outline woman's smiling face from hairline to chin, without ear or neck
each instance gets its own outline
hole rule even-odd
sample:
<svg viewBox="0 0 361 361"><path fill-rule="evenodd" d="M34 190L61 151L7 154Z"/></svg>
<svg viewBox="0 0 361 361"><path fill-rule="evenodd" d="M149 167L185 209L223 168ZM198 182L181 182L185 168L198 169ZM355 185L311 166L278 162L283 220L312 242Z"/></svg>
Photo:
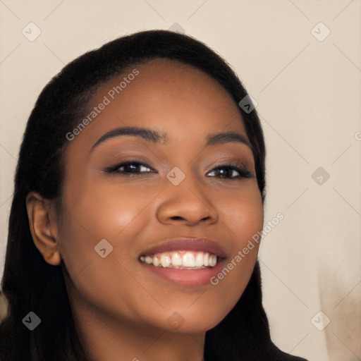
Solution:
<svg viewBox="0 0 361 361"><path fill-rule="evenodd" d="M66 151L58 229L72 304L143 329L213 328L250 279L257 244L235 259L263 226L254 159L237 105L208 75L158 59L99 88L89 114L91 121L73 132L78 135ZM104 137L126 127L160 136ZM209 137L226 132L245 142L219 136L207 145ZM122 166L126 161L131 164ZM244 166L246 176L225 164ZM221 251L194 240L166 244L187 237L213 240ZM165 267L140 260L157 264L151 248L159 245L165 245L157 252ZM215 267L204 269L204 257L222 252ZM168 266L173 257L182 266ZM203 262L203 268L179 269L187 259ZM217 277L232 261L233 269Z"/></svg>

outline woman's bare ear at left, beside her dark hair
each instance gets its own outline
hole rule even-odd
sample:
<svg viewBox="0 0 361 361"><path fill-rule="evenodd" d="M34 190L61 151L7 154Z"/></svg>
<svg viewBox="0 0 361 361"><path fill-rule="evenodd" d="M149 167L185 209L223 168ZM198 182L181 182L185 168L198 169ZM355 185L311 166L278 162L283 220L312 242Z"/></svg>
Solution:
<svg viewBox="0 0 361 361"><path fill-rule="evenodd" d="M54 266L60 264L58 225L53 202L37 192L28 193L25 202L35 246L46 262Z"/></svg>

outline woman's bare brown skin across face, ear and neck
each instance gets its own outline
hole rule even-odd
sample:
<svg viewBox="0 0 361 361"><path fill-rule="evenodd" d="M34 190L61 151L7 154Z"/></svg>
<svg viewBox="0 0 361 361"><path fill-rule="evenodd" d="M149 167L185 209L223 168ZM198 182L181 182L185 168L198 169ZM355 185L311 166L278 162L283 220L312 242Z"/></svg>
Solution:
<svg viewBox="0 0 361 361"><path fill-rule="evenodd" d="M237 104L215 80L165 59L133 68L139 75L70 142L61 210L36 192L27 196L32 238L49 264L63 267L92 360L201 361L205 332L242 295L258 245L216 286L176 285L154 276L137 258L167 238L190 235L221 244L225 265L230 262L263 227L255 163L250 147L239 142L204 147L210 133L234 131L247 139ZM133 68L100 87L92 104ZM124 126L159 130L169 140L118 136L90 152L102 135ZM134 157L156 172L104 171ZM231 179L231 170L225 178L212 173L221 161L237 159L252 178ZM176 186L166 178L174 166L185 174ZM102 239L113 247L105 258L94 251ZM178 329L167 322L173 312L183 319Z"/></svg>

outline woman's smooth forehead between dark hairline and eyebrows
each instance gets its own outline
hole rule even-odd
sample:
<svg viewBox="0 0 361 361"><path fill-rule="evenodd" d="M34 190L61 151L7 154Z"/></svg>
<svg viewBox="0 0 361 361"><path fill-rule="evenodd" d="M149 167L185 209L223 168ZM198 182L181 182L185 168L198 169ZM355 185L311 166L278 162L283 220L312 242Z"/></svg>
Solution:
<svg viewBox="0 0 361 361"><path fill-rule="evenodd" d="M130 66L99 87L89 111L99 104L106 105L79 136L87 137L87 144L125 126L157 129L170 142L200 142L206 134L220 131L238 131L247 137L228 92L206 73L178 61L154 59Z"/></svg>

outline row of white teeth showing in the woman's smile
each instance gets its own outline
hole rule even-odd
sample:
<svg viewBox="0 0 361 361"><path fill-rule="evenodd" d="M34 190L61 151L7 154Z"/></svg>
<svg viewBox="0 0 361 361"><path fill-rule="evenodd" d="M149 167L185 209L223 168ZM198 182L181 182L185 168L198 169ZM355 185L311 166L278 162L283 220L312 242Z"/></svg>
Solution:
<svg viewBox="0 0 361 361"><path fill-rule="evenodd" d="M216 266L219 257L211 252L178 250L142 255L139 260L145 264L169 269L205 269Z"/></svg>

